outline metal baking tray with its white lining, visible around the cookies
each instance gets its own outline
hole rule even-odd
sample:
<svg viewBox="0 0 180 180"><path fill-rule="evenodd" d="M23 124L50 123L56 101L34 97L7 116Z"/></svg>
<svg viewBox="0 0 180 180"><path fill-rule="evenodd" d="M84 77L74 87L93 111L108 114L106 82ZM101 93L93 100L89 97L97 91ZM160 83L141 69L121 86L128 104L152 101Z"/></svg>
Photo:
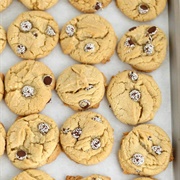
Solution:
<svg viewBox="0 0 180 180"><path fill-rule="evenodd" d="M0 24L7 30L9 24L17 15L27 10L20 2L13 1L7 10L0 13ZM68 3L68 0L60 0L57 5L47 10L47 12L53 15L60 28L73 17L81 14ZM166 171L156 176L156 178L159 180L180 180L180 1L169 0L166 10L157 19L145 23L138 23L125 17L116 7L115 0L104 11L98 12L98 14L112 23L118 40L129 28L141 24L157 25L164 29L169 37L169 50L165 62L159 69L150 73L160 85L163 97L165 97L165 102L161 109L150 123L159 125L165 129L170 138L172 138L174 148L174 161L170 163ZM59 45L57 45L49 56L40 61L44 62L53 70L56 78L63 69L77 63L70 57L65 56ZM10 47L7 46L5 51L0 55L0 72L6 73L11 66L18 62L20 62L20 58L14 55ZM105 65L96 65L96 67L104 72L108 81L118 71L131 69L130 66L118 59L116 53L110 62ZM112 180L132 180L135 176L124 175L117 159L122 134L123 132L130 131L132 127L120 123L114 117L108 107L106 98L103 99L98 109L92 111L103 114L115 129L115 145L111 155L105 161L95 166L86 167L72 162L64 153L61 153L55 162L45 165L40 169L50 174L56 180L65 180L66 175L88 176L93 173L109 175L112 177ZM65 107L56 93L53 92L52 103L46 106L42 114L52 117L60 127L74 112L70 108ZM16 117L6 107L4 102L0 102L0 121L4 123L6 129L11 126ZM0 158L0 180L10 180L19 172L21 171L9 162L6 155Z"/></svg>

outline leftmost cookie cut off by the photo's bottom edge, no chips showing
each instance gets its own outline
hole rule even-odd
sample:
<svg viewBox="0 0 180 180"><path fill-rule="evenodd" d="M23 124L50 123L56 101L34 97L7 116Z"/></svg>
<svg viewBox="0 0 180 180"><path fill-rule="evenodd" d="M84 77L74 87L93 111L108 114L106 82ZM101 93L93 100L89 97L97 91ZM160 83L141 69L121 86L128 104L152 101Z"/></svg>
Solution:
<svg viewBox="0 0 180 180"><path fill-rule="evenodd" d="M29 169L21 172L20 174L15 176L12 180L54 180L54 179L43 171Z"/></svg>

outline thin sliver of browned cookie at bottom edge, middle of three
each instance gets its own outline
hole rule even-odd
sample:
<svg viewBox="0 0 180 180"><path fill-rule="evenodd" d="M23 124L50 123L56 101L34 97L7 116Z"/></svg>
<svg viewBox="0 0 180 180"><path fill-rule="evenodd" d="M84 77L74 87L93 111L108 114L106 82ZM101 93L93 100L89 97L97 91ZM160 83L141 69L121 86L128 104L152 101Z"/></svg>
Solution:
<svg viewBox="0 0 180 180"><path fill-rule="evenodd" d="M81 177L81 176L67 176L66 180L111 180L109 177L101 176L98 174L93 174L88 177Z"/></svg>

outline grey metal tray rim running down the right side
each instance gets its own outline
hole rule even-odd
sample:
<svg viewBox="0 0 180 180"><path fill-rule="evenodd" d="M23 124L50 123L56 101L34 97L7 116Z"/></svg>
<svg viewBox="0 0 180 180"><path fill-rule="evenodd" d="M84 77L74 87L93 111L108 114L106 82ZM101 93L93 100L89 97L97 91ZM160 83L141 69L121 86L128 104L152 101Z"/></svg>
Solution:
<svg viewBox="0 0 180 180"><path fill-rule="evenodd" d="M171 110L173 138L173 175L180 179L180 0L169 0L169 43L170 43L170 74L171 74Z"/></svg>

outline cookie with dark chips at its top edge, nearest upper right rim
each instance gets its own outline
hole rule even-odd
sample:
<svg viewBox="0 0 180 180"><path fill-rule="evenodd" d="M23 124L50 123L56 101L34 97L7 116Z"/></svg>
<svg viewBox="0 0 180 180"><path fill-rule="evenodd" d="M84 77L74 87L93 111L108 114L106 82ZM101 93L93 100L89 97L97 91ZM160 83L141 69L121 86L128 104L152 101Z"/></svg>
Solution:
<svg viewBox="0 0 180 180"><path fill-rule="evenodd" d="M150 72L157 69L166 57L167 38L156 26L142 25L131 28L120 40L119 58L133 68Z"/></svg>

